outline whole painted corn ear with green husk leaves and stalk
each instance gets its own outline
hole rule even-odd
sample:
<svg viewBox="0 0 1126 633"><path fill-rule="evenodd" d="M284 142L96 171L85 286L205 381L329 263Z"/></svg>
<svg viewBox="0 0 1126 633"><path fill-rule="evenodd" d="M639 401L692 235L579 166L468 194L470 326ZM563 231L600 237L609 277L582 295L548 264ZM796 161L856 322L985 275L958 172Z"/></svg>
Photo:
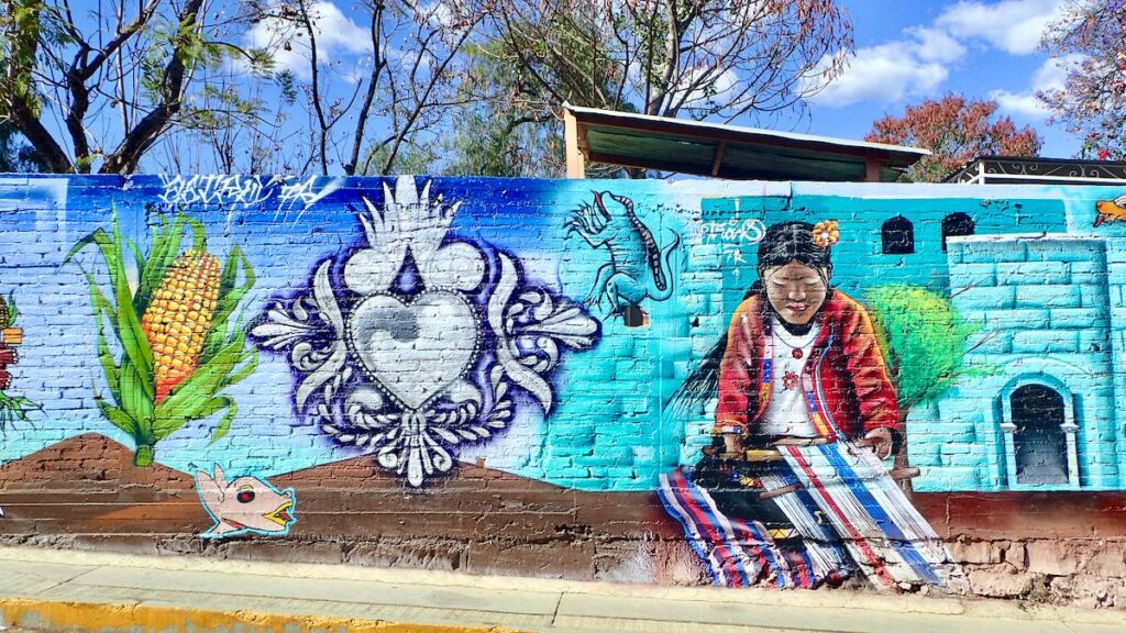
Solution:
<svg viewBox="0 0 1126 633"><path fill-rule="evenodd" d="M181 252L189 230L193 244ZM149 252L143 253L122 234L115 213L109 232L98 229L82 238L63 261L93 246L108 269L109 293L83 269L109 394L96 387L95 401L106 420L133 438L137 466L151 465L157 443L188 422L222 413L212 442L226 435L239 409L222 391L258 366L258 350L247 345L242 320L232 320L254 285L242 250L232 247L221 266L207 251L203 224L182 213L158 216L150 233ZM137 279L133 284L131 267Z"/></svg>

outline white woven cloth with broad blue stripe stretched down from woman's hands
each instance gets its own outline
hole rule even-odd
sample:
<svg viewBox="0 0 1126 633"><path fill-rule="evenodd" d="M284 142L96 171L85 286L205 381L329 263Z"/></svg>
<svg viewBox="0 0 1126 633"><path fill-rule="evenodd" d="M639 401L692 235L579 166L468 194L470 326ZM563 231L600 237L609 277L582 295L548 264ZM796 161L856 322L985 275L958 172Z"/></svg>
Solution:
<svg viewBox="0 0 1126 633"><path fill-rule="evenodd" d="M847 440L779 449L873 585L944 586L960 576L941 540L872 451Z"/></svg>

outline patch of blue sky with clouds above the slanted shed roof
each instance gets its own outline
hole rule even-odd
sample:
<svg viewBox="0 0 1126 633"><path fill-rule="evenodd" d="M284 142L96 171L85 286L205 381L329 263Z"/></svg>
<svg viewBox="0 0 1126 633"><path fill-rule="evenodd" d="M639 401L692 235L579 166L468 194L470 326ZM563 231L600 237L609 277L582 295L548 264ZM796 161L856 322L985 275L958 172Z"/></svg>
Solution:
<svg viewBox="0 0 1126 633"><path fill-rule="evenodd" d="M1069 158L1080 145L1033 98L1063 72L1038 47L1067 0L842 0L856 39L846 73L816 95L798 130L860 139L885 114L926 97L995 98L1002 114L1044 136L1040 155Z"/></svg>

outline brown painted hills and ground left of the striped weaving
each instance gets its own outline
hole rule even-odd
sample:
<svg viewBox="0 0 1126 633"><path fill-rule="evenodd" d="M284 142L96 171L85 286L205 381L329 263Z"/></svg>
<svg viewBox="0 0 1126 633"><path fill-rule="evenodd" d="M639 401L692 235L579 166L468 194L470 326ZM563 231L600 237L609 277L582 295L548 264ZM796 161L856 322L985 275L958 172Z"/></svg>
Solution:
<svg viewBox="0 0 1126 633"><path fill-rule="evenodd" d="M297 521L284 541L194 538L212 520L190 475L137 469L129 448L87 434L0 466L0 540L560 578L703 573L654 493L581 492L472 464L417 491L370 457L270 482L297 493Z"/></svg>

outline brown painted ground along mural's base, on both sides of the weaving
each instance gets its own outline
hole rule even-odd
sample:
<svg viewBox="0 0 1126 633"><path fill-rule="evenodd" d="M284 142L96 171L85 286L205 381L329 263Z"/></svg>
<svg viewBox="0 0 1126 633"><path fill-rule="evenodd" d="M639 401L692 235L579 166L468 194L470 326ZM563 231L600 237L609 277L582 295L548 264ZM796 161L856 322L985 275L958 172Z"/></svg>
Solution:
<svg viewBox="0 0 1126 633"><path fill-rule="evenodd" d="M423 491L369 457L270 479L294 488L284 538L196 538L212 521L190 475L154 464L98 434L0 466L0 542L134 552L349 562L474 573L703 582L679 525L651 492L583 492L479 465ZM229 473L234 475L236 473ZM975 592L1085 596L1126 604L1126 492L917 493ZM1066 587L1057 585L1071 582ZM1106 589L1107 582L1111 588ZM1062 588L1061 588L1062 587ZM1084 589L1085 590L1085 589ZM1081 596L1082 594L1082 596ZM1094 599L1094 598L1092 598Z"/></svg>

